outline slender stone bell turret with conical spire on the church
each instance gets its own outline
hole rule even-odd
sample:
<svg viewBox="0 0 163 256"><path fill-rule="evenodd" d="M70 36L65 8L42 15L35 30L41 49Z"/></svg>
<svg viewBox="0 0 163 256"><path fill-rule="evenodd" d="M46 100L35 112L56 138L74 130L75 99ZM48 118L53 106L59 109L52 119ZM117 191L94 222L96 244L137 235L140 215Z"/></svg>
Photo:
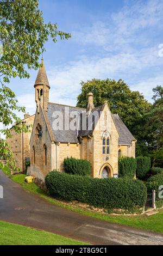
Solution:
<svg viewBox="0 0 163 256"><path fill-rule="evenodd" d="M49 102L49 82L46 75L45 65L43 63L43 58L41 59L41 66L39 68L39 72L36 77L36 81L34 84L35 88L35 101L37 106L37 112L39 113L39 106L43 107L45 111L47 111L48 102Z"/></svg>

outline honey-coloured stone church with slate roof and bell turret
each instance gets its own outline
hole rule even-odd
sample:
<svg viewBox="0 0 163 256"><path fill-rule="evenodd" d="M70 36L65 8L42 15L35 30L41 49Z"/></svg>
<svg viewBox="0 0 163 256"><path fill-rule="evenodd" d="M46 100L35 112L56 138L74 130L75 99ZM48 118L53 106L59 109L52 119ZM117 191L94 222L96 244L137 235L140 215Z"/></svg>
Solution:
<svg viewBox="0 0 163 256"><path fill-rule="evenodd" d="M136 139L108 103L97 108L89 93L87 108L49 102L43 59L34 84L36 113L30 137L30 169L41 185L51 170L64 172L64 159L91 162L93 177L117 177L118 157L135 157ZM102 124L102 125L101 125Z"/></svg>

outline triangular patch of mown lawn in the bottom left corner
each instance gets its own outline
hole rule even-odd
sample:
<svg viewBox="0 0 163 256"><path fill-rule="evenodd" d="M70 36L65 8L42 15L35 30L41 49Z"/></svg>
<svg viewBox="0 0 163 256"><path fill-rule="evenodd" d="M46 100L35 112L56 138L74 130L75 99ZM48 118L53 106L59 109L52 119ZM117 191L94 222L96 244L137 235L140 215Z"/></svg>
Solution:
<svg viewBox="0 0 163 256"><path fill-rule="evenodd" d="M0 245L86 245L84 242L0 221Z"/></svg>

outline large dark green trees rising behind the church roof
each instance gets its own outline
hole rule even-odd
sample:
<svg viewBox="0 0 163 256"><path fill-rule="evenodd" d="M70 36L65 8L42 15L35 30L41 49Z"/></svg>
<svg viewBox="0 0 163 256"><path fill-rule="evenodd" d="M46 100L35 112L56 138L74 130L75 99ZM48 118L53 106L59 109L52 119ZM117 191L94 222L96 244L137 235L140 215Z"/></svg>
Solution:
<svg viewBox="0 0 163 256"><path fill-rule="evenodd" d="M122 80L93 79L82 81L81 86L77 106L86 107L89 92L94 95L95 107L107 100L111 112L120 115L137 139L136 156L149 156L153 167L163 168L163 88L153 89L152 105L139 92L131 92Z"/></svg>

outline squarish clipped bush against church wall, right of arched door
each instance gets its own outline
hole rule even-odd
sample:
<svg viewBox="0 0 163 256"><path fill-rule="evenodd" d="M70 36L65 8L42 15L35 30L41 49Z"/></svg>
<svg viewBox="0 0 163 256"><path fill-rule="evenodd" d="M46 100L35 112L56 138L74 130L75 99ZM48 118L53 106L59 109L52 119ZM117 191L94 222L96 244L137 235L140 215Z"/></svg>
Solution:
<svg viewBox="0 0 163 256"><path fill-rule="evenodd" d="M137 163L134 157L120 157L118 159L118 176L134 178L136 167Z"/></svg>

